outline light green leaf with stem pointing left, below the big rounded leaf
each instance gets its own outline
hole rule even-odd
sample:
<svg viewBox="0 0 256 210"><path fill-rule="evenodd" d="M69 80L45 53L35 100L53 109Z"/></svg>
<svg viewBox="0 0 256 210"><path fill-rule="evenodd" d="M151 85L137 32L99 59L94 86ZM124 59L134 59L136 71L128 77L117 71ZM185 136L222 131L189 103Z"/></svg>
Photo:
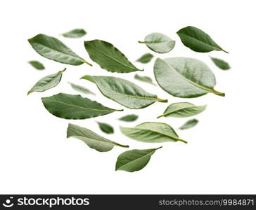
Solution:
<svg viewBox="0 0 256 210"><path fill-rule="evenodd" d="M174 117L174 118L186 118L191 116L196 116L201 113L206 108L205 106L195 106L194 104L188 102L174 103L165 109L165 112L158 116L161 117Z"/></svg>

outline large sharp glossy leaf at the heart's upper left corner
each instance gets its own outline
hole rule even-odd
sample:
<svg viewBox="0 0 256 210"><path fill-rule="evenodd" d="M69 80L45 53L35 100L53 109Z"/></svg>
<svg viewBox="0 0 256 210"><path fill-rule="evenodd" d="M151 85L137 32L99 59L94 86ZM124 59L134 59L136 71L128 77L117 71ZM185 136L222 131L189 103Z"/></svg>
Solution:
<svg viewBox="0 0 256 210"><path fill-rule="evenodd" d="M37 36L28 39L28 41L39 55L56 62L74 66L84 63L89 64L89 62L85 61L82 57L79 57L75 52L70 50L68 46L59 41L58 38L47 36L45 34L38 34ZM91 64L89 65L92 66Z"/></svg>

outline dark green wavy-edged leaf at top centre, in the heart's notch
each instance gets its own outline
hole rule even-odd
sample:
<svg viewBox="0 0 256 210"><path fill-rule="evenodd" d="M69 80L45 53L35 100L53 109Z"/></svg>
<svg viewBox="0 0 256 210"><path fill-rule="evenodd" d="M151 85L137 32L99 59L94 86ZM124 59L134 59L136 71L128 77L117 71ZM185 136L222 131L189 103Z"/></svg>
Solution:
<svg viewBox="0 0 256 210"><path fill-rule="evenodd" d="M84 41L84 47L91 59L102 69L117 73L143 71L137 69L120 50L111 43L101 40Z"/></svg>

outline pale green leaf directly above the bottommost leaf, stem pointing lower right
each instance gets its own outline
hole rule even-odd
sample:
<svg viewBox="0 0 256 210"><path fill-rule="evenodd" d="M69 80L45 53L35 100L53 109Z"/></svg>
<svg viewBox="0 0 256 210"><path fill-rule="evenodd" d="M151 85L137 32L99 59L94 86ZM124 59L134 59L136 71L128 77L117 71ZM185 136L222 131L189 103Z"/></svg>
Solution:
<svg viewBox="0 0 256 210"><path fill-rule="evenodd" d="M174 129L166 123L141 123L136 127L120 127L122 134L136 141L146 143L162 143L169 141L182 141Z"/></svg>

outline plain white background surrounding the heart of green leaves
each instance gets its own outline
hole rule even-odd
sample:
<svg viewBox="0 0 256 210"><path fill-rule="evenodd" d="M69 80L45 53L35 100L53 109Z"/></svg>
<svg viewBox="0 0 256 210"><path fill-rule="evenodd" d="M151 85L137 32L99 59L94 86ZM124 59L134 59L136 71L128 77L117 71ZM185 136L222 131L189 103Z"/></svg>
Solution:
<svg viewBox="0 0 256 210"><path fill-rule="evenodd" d="M255 168L255 1L1 1L1 137L0 193L256 193ZM193 25L206 31L225 52L198 53L186 48L176 31ZM84 28L83 38L59 36L65 31ZM39 33L56 36L78 55L91 61L83 41L102 39L113 43L134 62L145 52L137 43L151 32L176 40L174 50L155 57L195 57L207 63L217 78L216 90L226 97L207 94L196 99L179 99L160 87L133 80L135 73L109 73L94 63L69 66L53 62L35 52L27 38ZM218 69L209 55L225 59L230 71ZM37 71L27 61L38 59L46 66ZM91 61L92 62L92 61ZM153 77L153 62L140 75ZM46 92L27 90L39 78L68 67L60 85ZM190 118L156 119L168 104L155 103L146 109L111 113L87 120L64 120L52 116L41 97L58 92L77 94L68 81L96 92L105 106L122 109L103 97L85 74L112 75L133 80L148 92L173 102L207 104L196 116L200 123L191 130L177 130L182 142L143 144L120 134L119 126L134 127L143 122L164 122L176 130ZM139 114L134 123L117 118ZM115 134L103 134L96 120L115 127ZM156 148L140 172L115 172L117 156L124 148L98 153L78 139L66 139L68 123L94 132L130 148Z"/></svg>

